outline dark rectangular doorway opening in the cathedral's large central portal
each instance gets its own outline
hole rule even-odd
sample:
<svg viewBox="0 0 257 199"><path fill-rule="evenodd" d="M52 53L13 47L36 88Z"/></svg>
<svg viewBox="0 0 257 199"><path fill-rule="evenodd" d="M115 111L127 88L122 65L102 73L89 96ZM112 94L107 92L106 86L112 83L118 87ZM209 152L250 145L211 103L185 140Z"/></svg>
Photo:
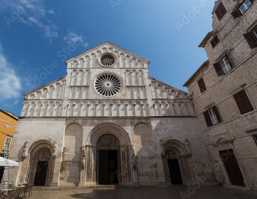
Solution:
<svg viewBox="0 0 257 199"><path fill-rule="evenodd" d="M99 150L99 184L118 183L117 150Z"/></svg>

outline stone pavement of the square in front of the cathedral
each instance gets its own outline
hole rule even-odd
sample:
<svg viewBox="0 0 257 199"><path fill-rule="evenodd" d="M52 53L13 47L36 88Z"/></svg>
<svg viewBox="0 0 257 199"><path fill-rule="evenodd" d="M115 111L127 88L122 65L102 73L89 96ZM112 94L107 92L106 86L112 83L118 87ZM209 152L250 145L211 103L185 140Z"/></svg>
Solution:
<svg viewBox="0 0 257 199"><path fill-rule="evenodd" d="M31 199L68 199L68 198L226 198L257 199L256 191L241 191L223 187L188 186L148 187L148 188L112 188L112 189L68 189L68 190L33 190Z"/></svg>

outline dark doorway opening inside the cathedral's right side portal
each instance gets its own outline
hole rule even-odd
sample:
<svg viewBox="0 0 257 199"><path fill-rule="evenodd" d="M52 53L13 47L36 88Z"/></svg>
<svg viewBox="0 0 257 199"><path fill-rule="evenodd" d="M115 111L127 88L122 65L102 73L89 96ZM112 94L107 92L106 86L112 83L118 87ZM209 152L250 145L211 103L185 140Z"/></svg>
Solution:
<svg viewBox="0 0 257 199"><path fill-rule="evenodd" d="M168 160L168 165L171 176L171 184L182 184L178 160Z"/></svg>

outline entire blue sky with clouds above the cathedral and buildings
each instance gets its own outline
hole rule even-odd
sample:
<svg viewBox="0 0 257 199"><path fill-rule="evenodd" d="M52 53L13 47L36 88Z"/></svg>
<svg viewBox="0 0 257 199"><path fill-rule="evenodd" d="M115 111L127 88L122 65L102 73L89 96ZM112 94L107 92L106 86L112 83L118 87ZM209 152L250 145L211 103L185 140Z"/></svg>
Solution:
<svg viewBox="0 0 257 199"><path fill-rule="evenodd" d="M150 60L149 75L182 85L208 58L214 0L0 1L0 108L66 75L65 60L110 41ZM71 48L76 43L75 48ZM44 67L58 65L47 76Z"/></svg>

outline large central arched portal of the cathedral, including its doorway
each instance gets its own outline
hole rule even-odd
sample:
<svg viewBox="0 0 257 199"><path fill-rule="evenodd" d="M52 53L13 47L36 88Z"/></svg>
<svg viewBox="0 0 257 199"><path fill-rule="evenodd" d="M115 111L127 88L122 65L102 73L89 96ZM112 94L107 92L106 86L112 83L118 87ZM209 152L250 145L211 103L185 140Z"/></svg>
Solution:
<svg viewBox="0 0 257 199"><path fill-rule="evenodd" d="M96 126L87 138L85 184L107 184L111 182L115 174L117 183L130 185L133 182L131 156L130 138L122 127L113 123ZM104 162L104 157L107 160L106 162ZM100 168L100 161L103 161L101 164L104 163L108 164L109 167L116 167L113 168L114 171L106 171L105 179L102 179L104 173L100 173L100 169L103 169ZM115 171L116 173L112 175L111 172Z"/></svg>

